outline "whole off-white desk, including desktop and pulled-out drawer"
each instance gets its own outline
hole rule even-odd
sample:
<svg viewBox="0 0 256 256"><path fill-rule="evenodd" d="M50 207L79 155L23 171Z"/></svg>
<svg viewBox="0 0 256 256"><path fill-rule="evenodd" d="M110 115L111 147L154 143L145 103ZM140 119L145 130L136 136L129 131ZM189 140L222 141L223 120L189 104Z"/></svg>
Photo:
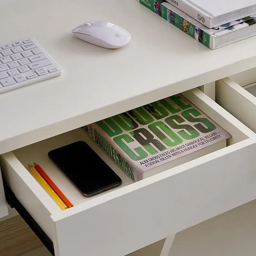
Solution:
<svg viewBox="0 0 256 256"><path fill-rule="evenodd" d="M236 108L231 111L239 100L240 116L249 102L256 114L256 102L229 80L218 82L223 92L218 88L222 96L232 95L227 104L220 102L234 116L197 89L185 92L255 67L256 37L212 51L135 0L10 0L1 9L7 24L2 39L35 36L64 70L60 77L0 95L0 154L9 152L0 156L2 173L53 241L56 256L124 255L256 198L254 127L234 117ZM89 20L124 27L130 44L108 50L72 35L72 28ZM53 145L82 138L73 129L180 92L232 135L229 147L131 184L92 144L123 187L90 200L78 198L47 158ZM80 204L60 211L25 169L34 156L53 168L54 182Z"/></svg>

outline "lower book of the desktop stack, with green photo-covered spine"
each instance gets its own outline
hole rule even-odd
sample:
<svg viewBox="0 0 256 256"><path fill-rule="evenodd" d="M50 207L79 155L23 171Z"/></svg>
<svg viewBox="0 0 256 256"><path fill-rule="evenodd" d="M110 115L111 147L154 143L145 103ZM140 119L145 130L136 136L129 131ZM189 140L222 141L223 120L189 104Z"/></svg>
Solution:
<svg viewBox="0 0 256 256"><path fill-rule="evenodd" d="M256 35L256 14L207 28L164 0L137 1L212 50Z"/></svg>

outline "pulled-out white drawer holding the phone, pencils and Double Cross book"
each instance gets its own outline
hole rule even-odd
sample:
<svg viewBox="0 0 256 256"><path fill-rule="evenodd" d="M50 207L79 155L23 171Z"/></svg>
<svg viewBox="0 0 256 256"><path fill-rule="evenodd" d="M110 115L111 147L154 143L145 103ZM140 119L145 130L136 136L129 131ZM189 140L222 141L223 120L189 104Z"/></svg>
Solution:
<svg viewBox="0 0 256 256"><path fill-rule="evenodd" d="M1 156L4 180L52 240L55 255L125 255L256 198L256 134L200 90L183 95L231 134L228 147L136 183L81 128ZM47 156L76 140L87 141L122 186L83 197ZM74 207L61 211L52 201L26 169L34 161Z"/></svg>

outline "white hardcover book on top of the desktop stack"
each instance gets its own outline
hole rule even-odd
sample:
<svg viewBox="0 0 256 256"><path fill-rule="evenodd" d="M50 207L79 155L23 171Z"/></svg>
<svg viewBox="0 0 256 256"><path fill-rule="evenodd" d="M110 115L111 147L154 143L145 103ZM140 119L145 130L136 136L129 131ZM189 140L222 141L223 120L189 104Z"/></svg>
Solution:
<svg viewBox="0 0 256 256"><path fill-rule="evenodd" d="M208 28L256 13L255 0L166 0Z"/></svg>

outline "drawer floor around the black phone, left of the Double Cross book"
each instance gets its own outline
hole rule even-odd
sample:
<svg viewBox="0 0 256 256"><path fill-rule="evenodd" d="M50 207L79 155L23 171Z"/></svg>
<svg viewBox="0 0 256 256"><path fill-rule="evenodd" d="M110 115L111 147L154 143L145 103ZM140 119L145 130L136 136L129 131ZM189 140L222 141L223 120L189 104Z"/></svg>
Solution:
<svg viewBox="0 0 256 256"><path fill-rule="evenodd" d="M69 201L75 206L91 200L93 198L102 196L109 191L95 195L93 197L84 197L78 189L68 180L68 178L61 172L58 167L48 157L48 152L54 148L62 147L69 143L84 140L100 157L107 162L107 164L116 172L116 174L122 179L122 184L119 187L113 188L111 191L125 187L132 184L133 181L124 173L124 171L115 164L112 159L82 130L78 128L76 130L60 134L58 136L49 138L47 140L39 141L35 144L31 144L24 148L14 150L12 153L19 159L21 164L28 169L28 164L36 162L39 164L52 181L60 188ZM24 170L26 171L26 170Z"/></svg>

